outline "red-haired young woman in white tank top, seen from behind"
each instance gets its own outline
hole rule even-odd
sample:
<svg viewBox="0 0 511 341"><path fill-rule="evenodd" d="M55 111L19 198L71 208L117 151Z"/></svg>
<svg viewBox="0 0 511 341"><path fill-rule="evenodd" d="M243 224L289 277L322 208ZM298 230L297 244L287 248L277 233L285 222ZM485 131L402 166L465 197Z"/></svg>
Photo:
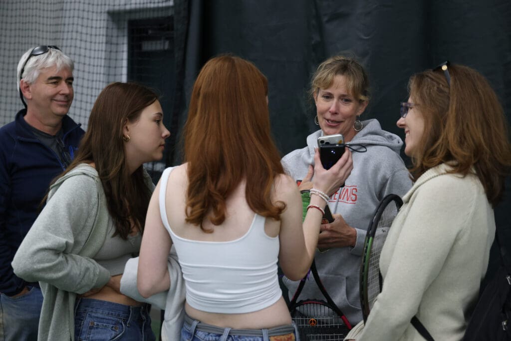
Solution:
<svg viewBox="0 0 511 341"><path fill-rule="evenodd" d="M294 340L277 281L314 256L326 201L301 197L284 173L270 133L267 80L252 63L220 56L202 68L184 131L186 163L167 169L149 203L138 263L144 296L169 288L176 247L187 288L182 340ZM316 153L314 187L328 194L352 169L346 151L330 170Z"/></svg>

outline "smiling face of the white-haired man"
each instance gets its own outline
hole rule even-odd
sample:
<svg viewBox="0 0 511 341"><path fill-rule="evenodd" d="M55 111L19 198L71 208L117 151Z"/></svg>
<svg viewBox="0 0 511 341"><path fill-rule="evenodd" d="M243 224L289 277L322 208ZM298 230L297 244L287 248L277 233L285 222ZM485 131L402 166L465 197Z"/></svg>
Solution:
<svg viewBox="0 0 511 341"><path fill-rule="evenodd" d="M30 84L30 95L29 110L47 119L65 116L73 103L73 73L65 67L58 72L57 66L43 69Z"/></svg>

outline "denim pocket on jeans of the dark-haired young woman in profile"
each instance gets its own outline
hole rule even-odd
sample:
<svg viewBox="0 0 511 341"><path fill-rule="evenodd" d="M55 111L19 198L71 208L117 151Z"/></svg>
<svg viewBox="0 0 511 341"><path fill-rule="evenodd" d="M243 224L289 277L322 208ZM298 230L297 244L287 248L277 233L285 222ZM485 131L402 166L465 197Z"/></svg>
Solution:
<svg viewBox="0 0 511 341"><path fill-rule="evenodd" d="M125 331L125 321L101 313L77 312L75 338L80 341L110 341L120 338Z"/></svg>

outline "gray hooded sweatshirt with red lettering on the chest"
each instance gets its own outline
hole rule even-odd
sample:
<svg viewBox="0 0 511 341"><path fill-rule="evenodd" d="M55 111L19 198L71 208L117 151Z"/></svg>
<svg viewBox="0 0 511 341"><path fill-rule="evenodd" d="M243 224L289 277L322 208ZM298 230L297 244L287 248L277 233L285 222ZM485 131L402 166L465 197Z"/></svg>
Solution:
<svg viewBox="0 0 511 341"><path fill-rule="evenodd" d="M355 247L331 248L327 252L316 251L318 274L327 292L354 326L362 320L359 294L359 274L364 239L374 211L388 194L403 196L412 186L409 172L400 156L403 141L395 134L382 130L375 120L363 121L363 129L355 135L351 144L361 144L366 152L352 150L353 171L344 187L330 197L329 207L333 214L340 214L346 223L357 230ZM314 165L314 148L318 130L307 137L307 147L296 149L282 158L284 169L295 180L303 179L309 165ZM359 148L354 146L354 148ZM284 277L293 297L299 282ZM323 299L312 276L298 300Z"/></svg>

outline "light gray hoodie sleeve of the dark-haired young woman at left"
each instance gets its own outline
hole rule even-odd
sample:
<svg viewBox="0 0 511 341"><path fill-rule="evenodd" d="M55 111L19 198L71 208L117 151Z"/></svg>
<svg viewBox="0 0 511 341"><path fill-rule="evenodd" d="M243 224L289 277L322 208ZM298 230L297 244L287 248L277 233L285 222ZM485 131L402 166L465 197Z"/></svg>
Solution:
<svg viewBox="0 0 511 341"><path fill-rule="evenodd" d="M92 230L98 204L97 186L91 177L77 175L63 181L14 256L16 276L79 294L104 286L109 271L91 258L77 255Z"/></svg>

